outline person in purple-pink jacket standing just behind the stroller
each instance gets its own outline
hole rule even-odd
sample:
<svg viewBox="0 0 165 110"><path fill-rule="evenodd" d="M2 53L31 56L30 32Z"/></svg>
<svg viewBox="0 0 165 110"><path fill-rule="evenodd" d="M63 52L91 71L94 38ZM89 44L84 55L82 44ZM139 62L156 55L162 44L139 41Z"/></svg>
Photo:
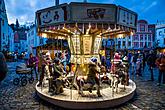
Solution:
<svg viewBox="0 0 165 110"><path fill-rule="evenodd" d="M36 74L36 80L38 80L38 57L34 57L32 53L30 53L29 60L28 60L28 66L32 69L34 69L34 72Z"/></svg>

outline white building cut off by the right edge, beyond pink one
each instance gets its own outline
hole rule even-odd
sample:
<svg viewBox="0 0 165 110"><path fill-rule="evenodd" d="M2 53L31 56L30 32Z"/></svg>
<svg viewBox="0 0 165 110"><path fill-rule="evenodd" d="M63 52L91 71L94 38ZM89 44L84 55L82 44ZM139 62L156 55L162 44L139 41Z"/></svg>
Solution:
<svg viewBox="0 0 165 110"><path fill-rule="evenodd" d="M156 24L156 44L160 48L165 48L165 22Z"/></svg>

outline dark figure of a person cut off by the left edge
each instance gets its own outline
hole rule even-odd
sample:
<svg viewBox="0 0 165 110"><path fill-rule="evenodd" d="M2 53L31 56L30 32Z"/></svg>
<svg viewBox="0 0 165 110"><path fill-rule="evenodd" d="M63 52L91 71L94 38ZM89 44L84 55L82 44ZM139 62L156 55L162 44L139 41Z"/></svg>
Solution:
<svg viewBox="0 0 165 110"><path fill-rule="evenodd" d="M6 64L5 56L2 52L0 52L0 82L5 78L8 68Z"/></svg>

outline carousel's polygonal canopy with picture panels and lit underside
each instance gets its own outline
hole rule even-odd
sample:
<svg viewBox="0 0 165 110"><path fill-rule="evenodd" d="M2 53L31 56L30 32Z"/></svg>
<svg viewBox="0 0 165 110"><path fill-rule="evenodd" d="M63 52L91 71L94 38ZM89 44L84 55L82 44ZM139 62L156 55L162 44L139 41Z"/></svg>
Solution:
<svg viewBox="0 0 165 110"><path fill-rule="evenodd" d="M114 36L135 32L137 14L114 4L61 4L36 12L38 34L43 37L92 34Z"/></svg>

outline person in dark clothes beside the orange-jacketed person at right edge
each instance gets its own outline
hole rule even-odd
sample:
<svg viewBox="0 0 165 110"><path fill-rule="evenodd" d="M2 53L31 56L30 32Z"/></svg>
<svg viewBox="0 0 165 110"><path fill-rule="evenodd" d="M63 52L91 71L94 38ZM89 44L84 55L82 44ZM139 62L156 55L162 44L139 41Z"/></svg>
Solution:
<svg viewBox="0 0 165 110"><path fill-rule="evenodd" d="M149 81L154 81L154 73L153 68L155 67L156 55L154 54L153 50L149 52L149 56L147 59L147 65L149 66L149 70L151 73L151 78Z"/></svg>

